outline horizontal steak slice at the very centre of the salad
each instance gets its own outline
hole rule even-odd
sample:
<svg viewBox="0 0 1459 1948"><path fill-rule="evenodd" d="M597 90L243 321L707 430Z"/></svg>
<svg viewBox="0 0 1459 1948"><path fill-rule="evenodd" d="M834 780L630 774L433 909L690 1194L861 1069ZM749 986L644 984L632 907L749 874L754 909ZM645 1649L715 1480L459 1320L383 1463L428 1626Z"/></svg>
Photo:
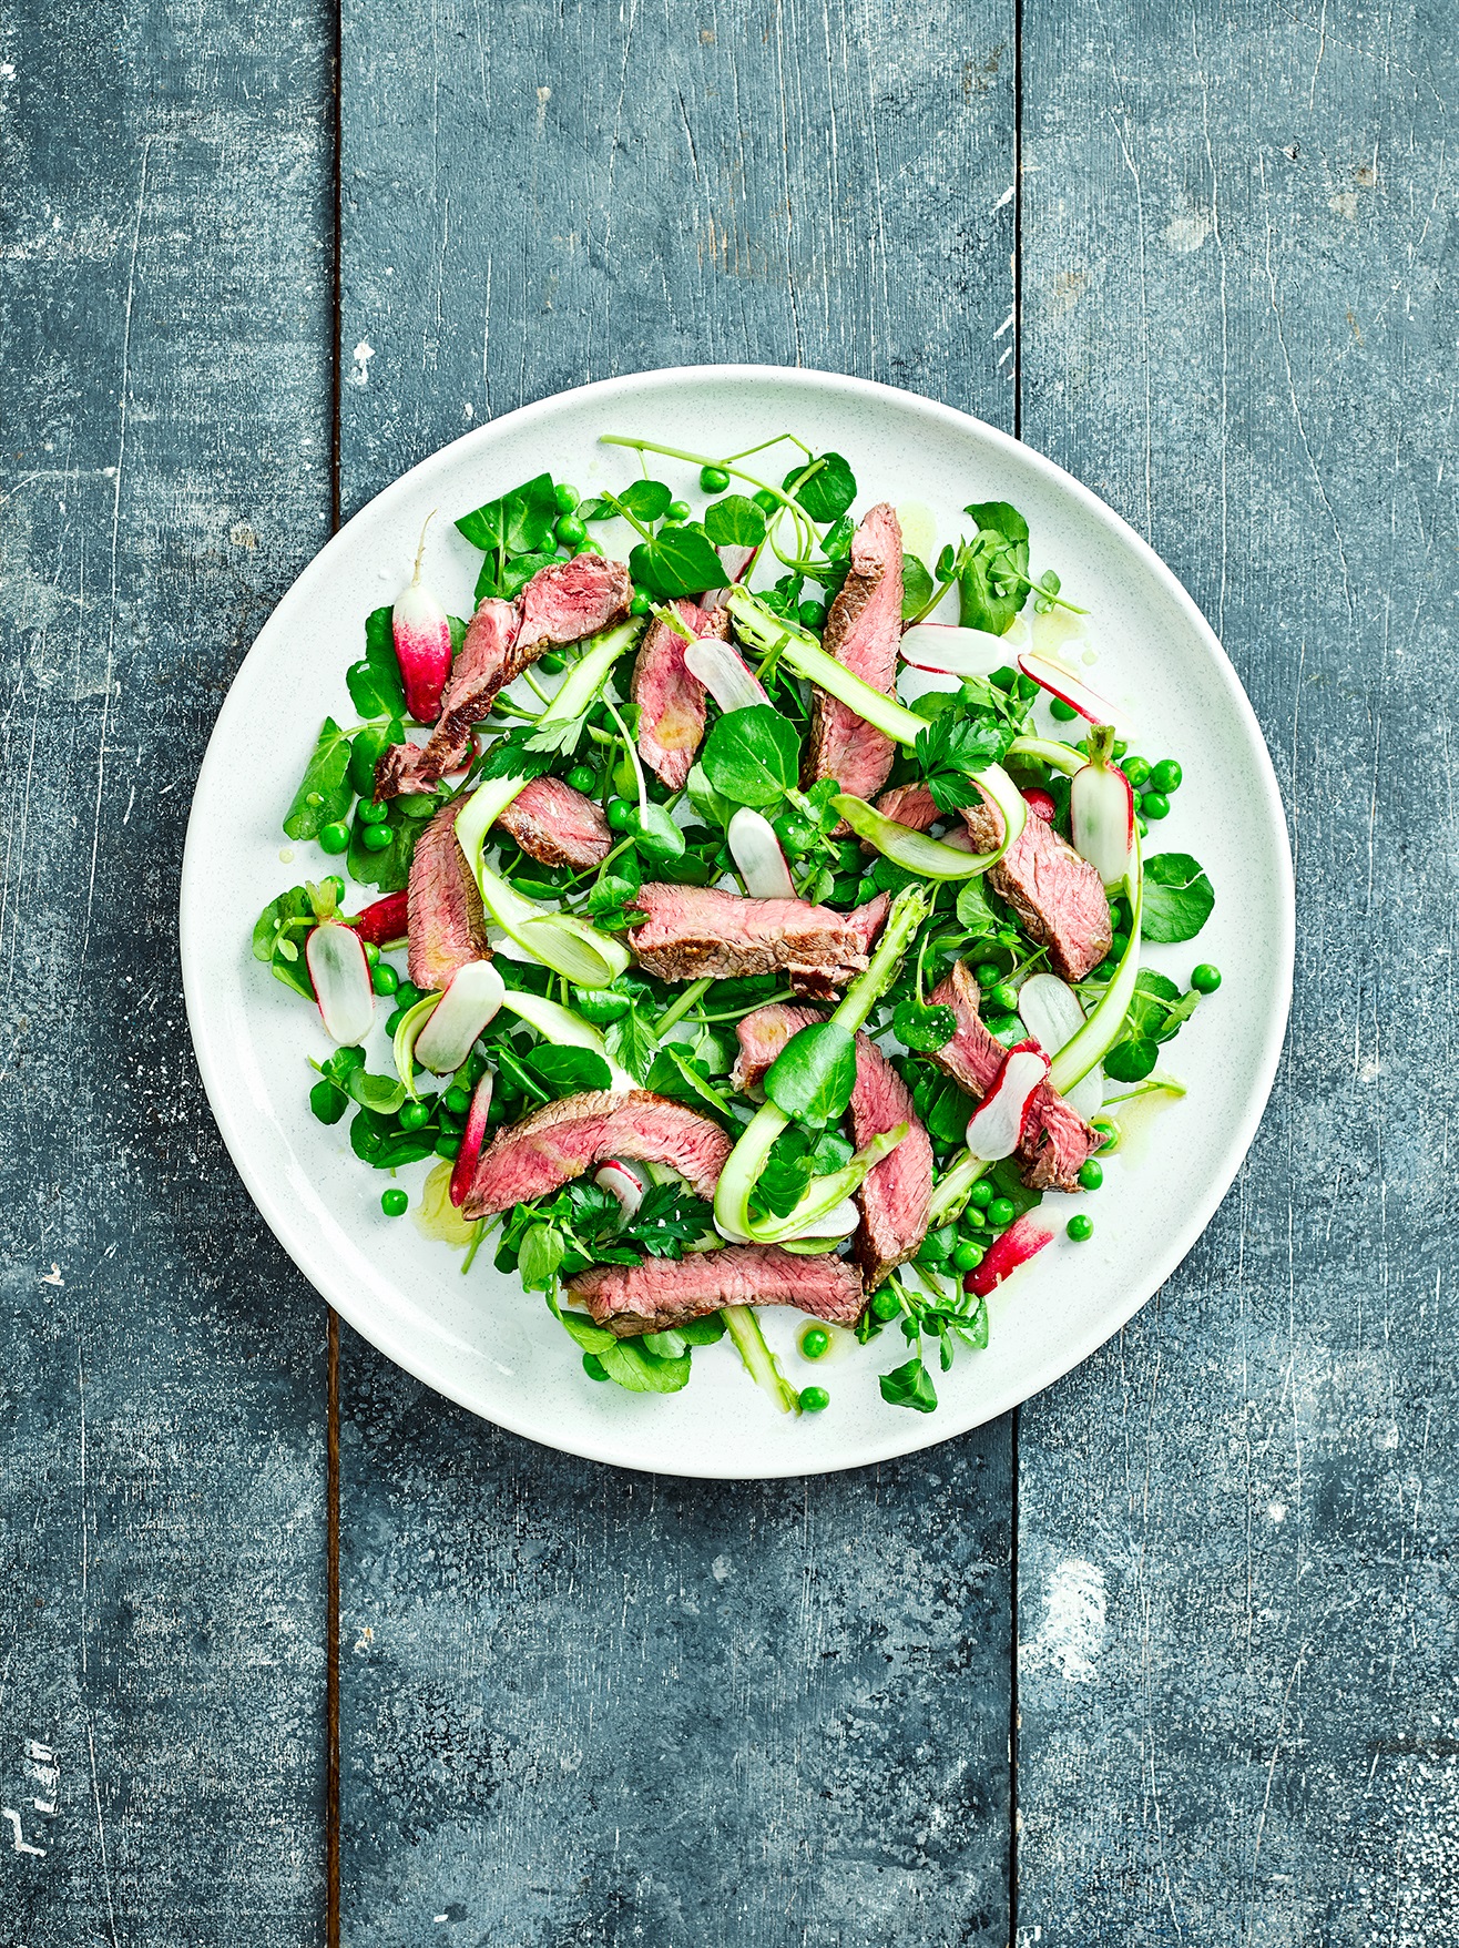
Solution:
<svg viewBox="0 0 1459 1948"><path fill-rule="evenodd" d="M746 900L717 886L655 880L639 888L633 908L649 916L629 935L633 958L658 980L785 974L793 988L843 988L867 964L857 929L806 900Z"/></svg>

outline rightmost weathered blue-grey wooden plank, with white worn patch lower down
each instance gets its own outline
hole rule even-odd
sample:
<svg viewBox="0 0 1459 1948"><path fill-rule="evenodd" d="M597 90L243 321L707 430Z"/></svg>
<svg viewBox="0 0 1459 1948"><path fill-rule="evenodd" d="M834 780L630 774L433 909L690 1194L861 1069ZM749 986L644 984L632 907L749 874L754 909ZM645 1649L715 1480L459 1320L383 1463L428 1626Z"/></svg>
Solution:
<svg viewBox="0 0 1459 1948"><path fill-rule="evenodd" d="M1237 1188L1023 1416L1017 1938L1441 1940L1453 37L1208 0L1025 19L1025 432L1223 631L1299 923Z"/></svg>

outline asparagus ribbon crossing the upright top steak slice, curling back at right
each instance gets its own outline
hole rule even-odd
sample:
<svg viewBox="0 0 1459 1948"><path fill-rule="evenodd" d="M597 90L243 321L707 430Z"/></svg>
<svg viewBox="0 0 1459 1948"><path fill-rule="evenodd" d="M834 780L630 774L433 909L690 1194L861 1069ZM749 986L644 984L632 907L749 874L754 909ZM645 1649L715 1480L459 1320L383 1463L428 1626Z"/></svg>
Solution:
<svg viewBox="0 0 1459 1948"><path fill-rule="evenodd" d="M824 690L838 703L845 703L847 709L855 711L875 730L880 730L882 736L892 738L894 744L906 744L910 750L917 742L917 734L927 729L925 717L917 717L916 711L900 705L896 697L886 697L880 690L873 690L853 670L840 664L836 656L828 656L820 643L801 629L799 623L773 616L748 588L730 590L729 612L750 643L758 643L769 653L779 653L779 660L795 670L797 676L814 684L816 690ZM1071 756L1079 754L1071 752ZM1079 764L1083 764L1083 758L1079 758ZM925 832L914 832L910 826L882 816L865 799L853 799L849 793L843 793L834 803L857 838L867 840L894 865L906 867L908 873L916 873L919 879L974 879L978 873L986 873L991 865L997 865L1023 832L1023 822L1029 816L1023 793L999 764L990 764L986 771L978 773L978 789L990 805L997 806L1003 820L1003 843L991 853L962 851L960 845L929 840Z"/></svg>

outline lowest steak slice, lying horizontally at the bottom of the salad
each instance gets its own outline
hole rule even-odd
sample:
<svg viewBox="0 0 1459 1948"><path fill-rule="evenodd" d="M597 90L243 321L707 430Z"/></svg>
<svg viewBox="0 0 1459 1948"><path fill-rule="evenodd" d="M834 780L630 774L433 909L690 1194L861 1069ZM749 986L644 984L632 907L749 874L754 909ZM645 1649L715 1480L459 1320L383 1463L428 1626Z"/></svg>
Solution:
<svg viewBox="0 0 1459 1948"><path fill-rule="evenodd" d="M849 1258L801 1258L775 1245L727 1245L684 1258L643 1264L590 1264L567 1280L594 1325L619 1338L666 1332L721 1305L795 1305L834 1327L853 1327L865 1305L861 1274Z"/></svg>

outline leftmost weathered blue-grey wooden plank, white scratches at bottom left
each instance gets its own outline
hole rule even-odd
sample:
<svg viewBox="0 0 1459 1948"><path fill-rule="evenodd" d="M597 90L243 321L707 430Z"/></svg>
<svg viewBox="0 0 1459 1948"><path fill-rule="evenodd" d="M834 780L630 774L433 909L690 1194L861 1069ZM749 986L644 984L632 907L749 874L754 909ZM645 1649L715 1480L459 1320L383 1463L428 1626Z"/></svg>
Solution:
<svg viewBox="0 0 1459 1948"><path fill-rule="evenodd" d="M0 56L0 1938L314 1942L323 1317L203 1101L175 912L329 532L325 19L21 6Z"/></svg>

